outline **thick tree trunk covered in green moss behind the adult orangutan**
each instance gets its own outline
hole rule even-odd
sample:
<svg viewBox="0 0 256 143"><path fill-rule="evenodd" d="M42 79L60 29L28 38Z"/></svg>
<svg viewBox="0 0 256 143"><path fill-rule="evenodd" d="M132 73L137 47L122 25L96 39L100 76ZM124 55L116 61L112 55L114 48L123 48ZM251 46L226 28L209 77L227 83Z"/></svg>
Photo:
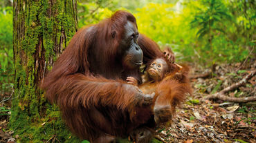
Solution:
<svg viewBox="0 0 256 143"><path fill-rule="evenodd" d="M13 3L15 94L10 128L21 142L75 142L39 86L77 30L76 0Z"/></svg>

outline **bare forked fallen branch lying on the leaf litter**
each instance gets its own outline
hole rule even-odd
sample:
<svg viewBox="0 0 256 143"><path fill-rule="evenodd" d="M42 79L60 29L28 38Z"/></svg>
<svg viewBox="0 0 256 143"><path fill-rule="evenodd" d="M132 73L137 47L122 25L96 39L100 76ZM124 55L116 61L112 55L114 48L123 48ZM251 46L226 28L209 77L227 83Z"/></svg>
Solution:
<svg viewBox="0 0 256 143"><path fill-rule="evenodd" d="M250 73L249 75L246 75L246 77L244 77L244 79L241 79L240 82L237 82L236 84L232 84L231 86L228 86L227 88L224 88L219 93L215 93L213 95L208 95L208 96L204 97L204 99L221 99L223 101L237 102L237 103L255 102L256 101L256 96L237 98L237 97L228 97L228 96L224 95L225 93L228 93L230 90L234 90L235 88L239 88L243 84L246 84L248 79L255 76L255 74L256 74L256 70L253 70L252 73Z"/></svg>

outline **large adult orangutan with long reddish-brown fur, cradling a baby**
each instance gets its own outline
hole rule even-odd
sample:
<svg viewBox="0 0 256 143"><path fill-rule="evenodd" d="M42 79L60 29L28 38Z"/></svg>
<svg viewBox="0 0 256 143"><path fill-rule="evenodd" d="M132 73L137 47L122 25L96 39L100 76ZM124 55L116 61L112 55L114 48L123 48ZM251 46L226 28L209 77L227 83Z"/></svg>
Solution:
<svg viewBox="0 0 256 143"><path fill-rule="evenodd" d="M74 35L44 79L46 98L60 106L71 131L90 142L113 142L154 126L154 95L125 79L141 81L138 67L156 55L164 56L154 41L138 35L135 17L117 11Z"/></svg>

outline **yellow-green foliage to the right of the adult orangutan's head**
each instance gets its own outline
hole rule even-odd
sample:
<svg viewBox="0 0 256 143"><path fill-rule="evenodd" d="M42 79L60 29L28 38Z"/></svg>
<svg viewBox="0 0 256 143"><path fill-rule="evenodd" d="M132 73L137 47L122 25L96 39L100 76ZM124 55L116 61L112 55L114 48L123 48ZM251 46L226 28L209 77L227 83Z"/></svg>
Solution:
<svg viewBox="0 0 256 143"><path fill-rule="evenodd" d="M243 61L256 53L252 1L149 3L136 10L139 31L161 46L171 46L178 60L212 65Z"/></svg>

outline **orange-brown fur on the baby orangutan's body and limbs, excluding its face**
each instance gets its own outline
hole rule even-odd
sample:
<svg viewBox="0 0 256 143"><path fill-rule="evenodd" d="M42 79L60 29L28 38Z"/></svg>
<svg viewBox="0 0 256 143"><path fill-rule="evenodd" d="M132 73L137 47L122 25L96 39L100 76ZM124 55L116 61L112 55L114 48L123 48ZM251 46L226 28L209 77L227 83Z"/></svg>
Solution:
<svg viewBox="0 0 256 143"><path fill-rule="evenodd" d="M151 62L149 61L149 64ZM168 63L167 73L165 73L165 77L160 82L149 82L139 86L143 93L156 93L154 104L152 105L156 123L171 120L176 106L185 100L186 95L192 95L192 87L188 75L190 69L185 65L182 67L179 68L175 64Z"/></svg>

